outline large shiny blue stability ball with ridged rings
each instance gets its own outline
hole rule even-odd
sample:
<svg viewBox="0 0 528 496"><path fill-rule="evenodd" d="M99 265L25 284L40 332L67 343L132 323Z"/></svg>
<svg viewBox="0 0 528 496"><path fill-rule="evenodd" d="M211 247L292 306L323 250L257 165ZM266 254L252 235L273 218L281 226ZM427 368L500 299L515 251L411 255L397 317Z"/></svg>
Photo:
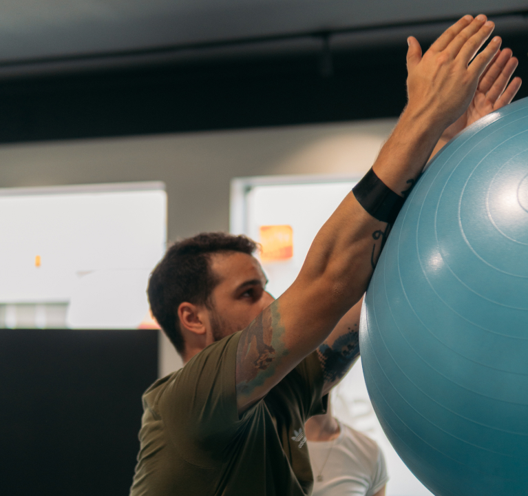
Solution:
<svg viewBox="0 0 528 496"><path fill-rule="evenodd" d="M528 495L528 99L437 156L368 287L379 421L435 495Z"/></svg>

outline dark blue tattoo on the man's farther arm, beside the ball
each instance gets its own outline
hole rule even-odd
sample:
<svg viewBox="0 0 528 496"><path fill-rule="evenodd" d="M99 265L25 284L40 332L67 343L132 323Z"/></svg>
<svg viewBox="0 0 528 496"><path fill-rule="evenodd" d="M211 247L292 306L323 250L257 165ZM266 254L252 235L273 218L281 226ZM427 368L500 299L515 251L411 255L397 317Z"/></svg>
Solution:
<svg viewBox="0 0 528 496"><path fill-rule="evenodd" d="M349 332L339 336L331 347L325 343L321 344L317 355L323 369L324 381L335 382L341 379L359 357L359 332L349 328Z"/></svg>

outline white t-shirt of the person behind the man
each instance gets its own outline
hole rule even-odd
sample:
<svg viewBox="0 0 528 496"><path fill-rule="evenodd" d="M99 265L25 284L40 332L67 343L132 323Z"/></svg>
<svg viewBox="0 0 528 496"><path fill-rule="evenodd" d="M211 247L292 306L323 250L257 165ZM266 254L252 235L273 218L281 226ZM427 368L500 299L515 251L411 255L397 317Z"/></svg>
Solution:
<svg viewBox="0 0 528 496"><path fill-rule="evenodd" d="M332 441L308 441L314 486L312 496L372 496L388 481L385 458L366 435L339 422ZM321 470L322 469L322 470ZM322 480L317 476L321 475Z"/></svg>

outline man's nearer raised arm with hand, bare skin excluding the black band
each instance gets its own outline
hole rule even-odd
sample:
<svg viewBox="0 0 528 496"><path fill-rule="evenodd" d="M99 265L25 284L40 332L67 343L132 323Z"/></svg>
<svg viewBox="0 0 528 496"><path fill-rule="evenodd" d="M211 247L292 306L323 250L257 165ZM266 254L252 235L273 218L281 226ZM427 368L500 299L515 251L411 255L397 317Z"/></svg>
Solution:
<svg viewBox="0 0 528 496"><path fill-rule="evenodd" d="M495 38L475 56L493 27L484 16L463 17L423 56L418 41L409 39L408 105L372 167L392 192L405 194L443 131L472 101L478 80L500 46ZM389 229L353 193L344 198L315 237L293 285L240 336L239 412L317 349L359 301Z"/></svg>

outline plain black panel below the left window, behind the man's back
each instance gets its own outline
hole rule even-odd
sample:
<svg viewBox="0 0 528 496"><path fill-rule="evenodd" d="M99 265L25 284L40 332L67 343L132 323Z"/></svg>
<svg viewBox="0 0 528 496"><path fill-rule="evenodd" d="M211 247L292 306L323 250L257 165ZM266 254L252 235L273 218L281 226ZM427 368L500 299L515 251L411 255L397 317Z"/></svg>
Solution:
<svg viewBox="0 0 528 496"><path fill-rule="evenodd" d="M0 330L0 493L127 495L157 331Z"/></svg>

